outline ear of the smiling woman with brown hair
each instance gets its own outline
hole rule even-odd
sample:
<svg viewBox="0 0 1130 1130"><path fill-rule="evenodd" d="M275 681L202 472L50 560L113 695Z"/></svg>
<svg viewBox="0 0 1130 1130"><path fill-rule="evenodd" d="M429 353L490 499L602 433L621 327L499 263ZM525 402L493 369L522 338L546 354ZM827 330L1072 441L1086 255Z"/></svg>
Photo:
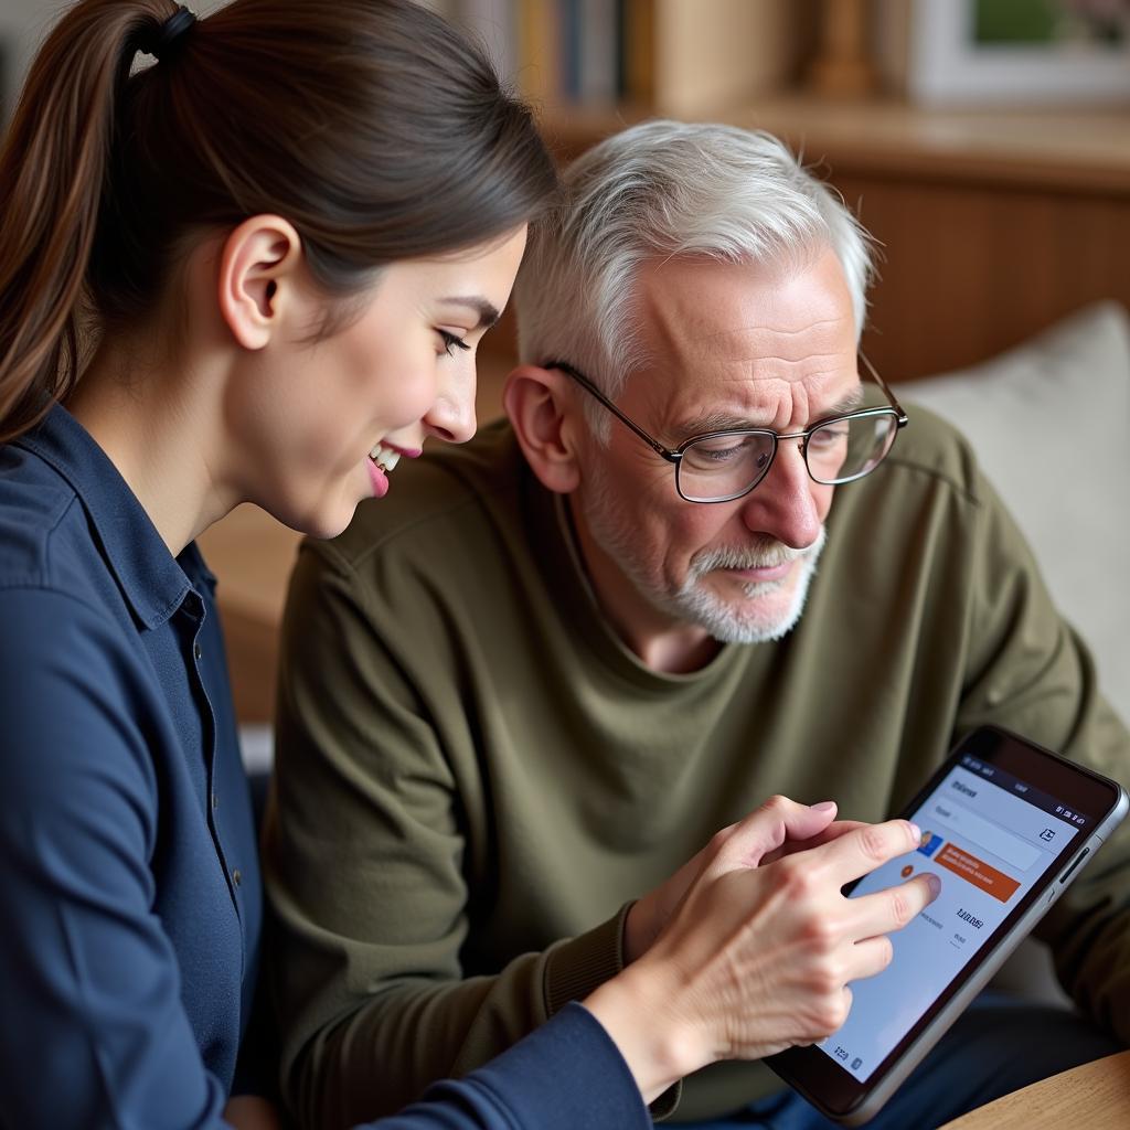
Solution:
<svg viewBox="0 0 1130 1130"><path fill-rule="evenodd" d="M280 216L252 216L224 241L219 308L244 349L262 349L299 306L302 240Z"/></svg>

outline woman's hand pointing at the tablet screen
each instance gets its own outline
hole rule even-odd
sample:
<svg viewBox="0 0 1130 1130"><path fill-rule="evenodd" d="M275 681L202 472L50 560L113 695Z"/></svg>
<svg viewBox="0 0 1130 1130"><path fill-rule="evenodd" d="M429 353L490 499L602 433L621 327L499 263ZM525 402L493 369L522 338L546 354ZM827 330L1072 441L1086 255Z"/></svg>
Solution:
<svg viewBox="0 0 1130 1130"><path fill-rule="evenodd" d="M937 894L936 879L918 876L845 898L845 884L913 851L918 829L888 820L829 838L832 810L803 808L774 798L715 836L692 860L654 942L584 1001L645 1098L715 1060L760 1059L831 1035L847 1017L849 982L886 968L887 935ZM812 836L824 842L781 854Z"/></svg>

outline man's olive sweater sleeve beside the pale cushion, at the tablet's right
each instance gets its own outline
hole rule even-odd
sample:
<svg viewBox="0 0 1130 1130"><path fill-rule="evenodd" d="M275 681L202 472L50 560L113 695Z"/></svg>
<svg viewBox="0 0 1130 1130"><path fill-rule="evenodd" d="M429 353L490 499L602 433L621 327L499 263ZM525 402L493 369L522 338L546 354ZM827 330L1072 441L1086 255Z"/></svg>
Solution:
<svg viewBox="0 0 1130 1130"><path fill-rule="evenodd" d="M973 646L958 734L1007 727L1130 783L1130 733L1101 694L1085 643L1058 614L1023 536L983 481L980 567L968 603ZM1085 553L1085 547L1079 547ZM1125 609L1112 609L1125 616ZM1036 930L1064 989L1130 1043L1130 820L1111 836Z"/></svg>

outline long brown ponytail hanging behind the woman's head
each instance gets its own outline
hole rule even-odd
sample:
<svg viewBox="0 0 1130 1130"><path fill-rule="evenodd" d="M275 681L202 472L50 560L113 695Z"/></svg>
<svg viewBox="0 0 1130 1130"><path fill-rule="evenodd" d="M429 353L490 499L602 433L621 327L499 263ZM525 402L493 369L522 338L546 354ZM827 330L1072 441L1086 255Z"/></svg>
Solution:
<svg viewBox="0 0 1130 1130"><path fill-rule="evenodd" d="M80 310L115 107L172 0L84 0L32 66L0 150L0 442L77 379Z"/></svg>

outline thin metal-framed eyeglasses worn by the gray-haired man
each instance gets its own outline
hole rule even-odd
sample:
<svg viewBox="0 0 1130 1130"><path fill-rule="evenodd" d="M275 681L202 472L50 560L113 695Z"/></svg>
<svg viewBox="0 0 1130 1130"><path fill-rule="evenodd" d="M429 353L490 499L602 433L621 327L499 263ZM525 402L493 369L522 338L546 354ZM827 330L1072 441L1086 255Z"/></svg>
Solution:
<svg viewBox="0 0 1130 1130"><path fill-rule="evenodd" d="M624 415L600 389L567 362L547 362L571 376L597 398L617 419L627 425L655 454L675 464L675 489L687 502L732 502L749 494L770 472L782 440L800 440L800 453L815 483L835 486L861 479L883 462L907 417L887 382L875 366L859 355L868 373L883 390L889 406L828 416L803 432L781 434L772 428L750 427L707 432L692 436L673 450L652 438Z"/></svg>

